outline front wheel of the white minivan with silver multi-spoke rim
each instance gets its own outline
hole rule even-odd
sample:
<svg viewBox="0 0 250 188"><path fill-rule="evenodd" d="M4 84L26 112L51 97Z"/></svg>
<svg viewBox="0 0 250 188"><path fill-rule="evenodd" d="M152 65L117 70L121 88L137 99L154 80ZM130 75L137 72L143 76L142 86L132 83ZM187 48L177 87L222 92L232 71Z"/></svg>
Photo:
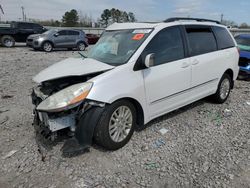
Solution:
<svg viewBox="0 0 250 188"><path fill-rule="evenodd" d="M95 128L94 140L108 150L117 150L128 143L134 133L136 110L127 100L105 107Z"/></svg>

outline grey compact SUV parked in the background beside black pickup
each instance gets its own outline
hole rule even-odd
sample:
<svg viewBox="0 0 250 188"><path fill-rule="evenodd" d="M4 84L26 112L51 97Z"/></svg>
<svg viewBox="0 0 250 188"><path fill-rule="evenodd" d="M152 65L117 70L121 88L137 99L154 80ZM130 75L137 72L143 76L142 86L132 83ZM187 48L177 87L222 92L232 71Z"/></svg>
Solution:
<svg viewBox="0 0 250 188"><path fill-rule="evenodd" d="M46 52L51 52L54 48L77 48L83 51L88 46L88 40L81 30L52 29L40 35L29 36L26 44L35 50Z"/></svg>

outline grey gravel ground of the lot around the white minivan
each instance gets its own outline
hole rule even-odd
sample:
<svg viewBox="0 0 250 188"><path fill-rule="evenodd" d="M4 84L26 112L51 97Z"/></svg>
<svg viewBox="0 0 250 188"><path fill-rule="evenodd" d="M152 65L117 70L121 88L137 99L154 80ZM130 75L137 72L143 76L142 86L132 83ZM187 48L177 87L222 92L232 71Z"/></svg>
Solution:
<svg viewBox="0 0 250 188"><path fill-rule="evenodd" d="M0 48L1 188L250 187L247 81L236 81L223 105L201 100L152 121L118 151L94 146L64 158L58 143L41 156L32 126L31 78L75 55Z"/></svg>

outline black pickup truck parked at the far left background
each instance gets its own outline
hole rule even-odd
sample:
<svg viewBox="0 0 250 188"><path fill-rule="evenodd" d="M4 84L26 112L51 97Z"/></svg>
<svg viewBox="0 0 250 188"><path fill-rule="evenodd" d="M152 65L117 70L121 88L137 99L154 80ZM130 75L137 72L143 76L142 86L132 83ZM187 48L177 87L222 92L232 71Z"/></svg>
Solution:
<svg viewBox="0 0 250 188"><path fill-rule="evenodd" d="M26 42L31 34L39 34L47 29L36 23L11 22L10 27L0 27L0 42L5 47L13 47L15 42Z"/></svg>

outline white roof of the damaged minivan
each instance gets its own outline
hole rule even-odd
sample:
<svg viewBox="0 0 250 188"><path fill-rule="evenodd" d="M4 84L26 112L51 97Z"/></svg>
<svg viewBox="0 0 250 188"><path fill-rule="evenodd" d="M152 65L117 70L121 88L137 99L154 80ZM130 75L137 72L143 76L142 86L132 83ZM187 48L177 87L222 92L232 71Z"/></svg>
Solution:
<svg viewBox="0 0 250 188"><path fill-rule="evenodd" d="M219 26L224 27L226 26L215 23L215 22L199 22L199 21L173 21L173 22L141 22L141 23L114 23L107 27L107 31L111 30L124 30L124 29L153 29L153 28L164 28L168 26L174 25L204 25L204 26Z"/></svg>

